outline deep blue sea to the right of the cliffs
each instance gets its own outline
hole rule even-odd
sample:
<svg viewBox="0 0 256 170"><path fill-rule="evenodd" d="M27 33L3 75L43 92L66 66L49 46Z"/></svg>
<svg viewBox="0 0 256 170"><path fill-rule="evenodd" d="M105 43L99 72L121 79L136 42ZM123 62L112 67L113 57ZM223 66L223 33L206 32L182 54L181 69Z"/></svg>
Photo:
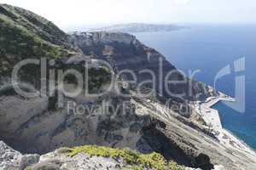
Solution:
<svg viewBox="0 0 256 170"><path fill-rule="evenodd" d="M187 75L200 70L195 79L212 86L218 71L226 65L234 70L234 61L245 57L246 70L221 77L216 88L234 96L235 77L245 75L246 111L240 113L222 102L214 108L218 109L223 126L256 150L256 26L190 26L179 31L135 35Z"/></svg>

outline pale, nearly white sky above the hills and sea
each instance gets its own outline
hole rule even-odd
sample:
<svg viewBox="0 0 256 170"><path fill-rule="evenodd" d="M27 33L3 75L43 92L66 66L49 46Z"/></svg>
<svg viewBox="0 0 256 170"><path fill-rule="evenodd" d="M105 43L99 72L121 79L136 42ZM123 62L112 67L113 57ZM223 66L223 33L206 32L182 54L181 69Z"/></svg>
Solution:
<svg viewBox="0 0 256 170"><path fill-rule="evenodd" d="M0 0L31 10L64 30L143 23L256 23L255 0Z"/></svg>

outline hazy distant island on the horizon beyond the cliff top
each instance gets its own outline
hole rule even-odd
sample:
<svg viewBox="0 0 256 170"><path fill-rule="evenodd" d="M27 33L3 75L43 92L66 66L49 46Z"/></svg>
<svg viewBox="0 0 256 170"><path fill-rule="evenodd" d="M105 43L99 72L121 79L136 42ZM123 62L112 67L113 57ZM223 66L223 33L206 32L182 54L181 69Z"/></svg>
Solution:
<svg viewBox="0 0 256 170"><path fill-rule="evenodd" d="M176 25L156 25L156 24L143 24L143 23L129 23L129 24L120 24L113 26L105 26L101 28L90 29L89 31L110 31L110 32L155 32L155 31L177 31L184 28L185 26L176 26Z"/></svg>

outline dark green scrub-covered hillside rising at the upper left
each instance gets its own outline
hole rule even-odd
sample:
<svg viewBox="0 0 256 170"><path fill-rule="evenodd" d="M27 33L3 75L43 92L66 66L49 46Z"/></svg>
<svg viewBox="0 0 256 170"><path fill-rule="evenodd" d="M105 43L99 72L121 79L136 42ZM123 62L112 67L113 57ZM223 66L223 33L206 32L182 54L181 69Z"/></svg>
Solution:
<svg viewBox="0 0 256 170"><path fill-rule="evenodd" d="M73 53L67 35L48 20L0 4L0 74L7 74L22 59L60 59Z"/></svg>

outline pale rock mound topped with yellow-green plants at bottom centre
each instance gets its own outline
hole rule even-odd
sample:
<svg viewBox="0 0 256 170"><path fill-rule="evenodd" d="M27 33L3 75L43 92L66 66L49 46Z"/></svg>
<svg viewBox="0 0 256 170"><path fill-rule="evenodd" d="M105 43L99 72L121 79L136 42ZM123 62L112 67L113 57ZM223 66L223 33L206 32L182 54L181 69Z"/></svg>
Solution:
<svg viewBox="0 0 256 170"><path fill-rule="evenodd" d="M63 170L193 170L193 168L179 166L174 161L168 162L155 152L143 155L129 149L119 150L95 145L55 150L41 156L37 164L27 168L32 170L49 168Z"/></svg>

